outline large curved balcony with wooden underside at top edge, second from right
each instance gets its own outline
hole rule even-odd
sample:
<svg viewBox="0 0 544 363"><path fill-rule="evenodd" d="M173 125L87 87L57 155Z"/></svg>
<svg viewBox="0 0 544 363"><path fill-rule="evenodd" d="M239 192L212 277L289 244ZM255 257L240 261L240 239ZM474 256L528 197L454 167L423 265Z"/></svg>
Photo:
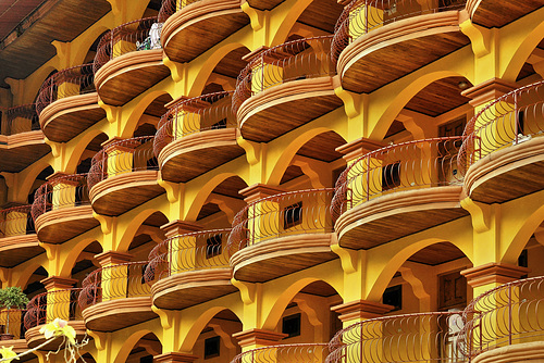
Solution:
<svg viewBox="0 0 544 363"><path fill-rule="evenodd" d="M468 45L459 28L465 2L354 0L332 45L342 87L370 93Z"/></svg>

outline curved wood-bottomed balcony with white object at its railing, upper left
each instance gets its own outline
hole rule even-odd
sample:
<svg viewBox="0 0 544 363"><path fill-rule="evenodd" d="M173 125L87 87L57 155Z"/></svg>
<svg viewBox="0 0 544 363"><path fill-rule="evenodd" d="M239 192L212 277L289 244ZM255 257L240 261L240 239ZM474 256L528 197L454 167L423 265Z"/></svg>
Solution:
<svg viewBox="0 0 544 363"><path fill-rule="evenodd" d="M123 105L170 75L162 63L162 23L146 17L118 26L98 43L95 85L100 99Z"/></svg>

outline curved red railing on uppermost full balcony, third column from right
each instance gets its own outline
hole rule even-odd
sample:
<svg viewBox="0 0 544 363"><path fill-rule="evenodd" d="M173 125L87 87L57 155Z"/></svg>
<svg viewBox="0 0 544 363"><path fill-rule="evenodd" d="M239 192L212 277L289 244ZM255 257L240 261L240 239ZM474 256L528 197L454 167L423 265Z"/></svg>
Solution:
<svg viewBox="0 0 544 363"><path fill-rule="evenodd" d="M250 97L284 83L334 76L332 36L297 39L270 48L242 71L233 96L234 112Z"/></svg>

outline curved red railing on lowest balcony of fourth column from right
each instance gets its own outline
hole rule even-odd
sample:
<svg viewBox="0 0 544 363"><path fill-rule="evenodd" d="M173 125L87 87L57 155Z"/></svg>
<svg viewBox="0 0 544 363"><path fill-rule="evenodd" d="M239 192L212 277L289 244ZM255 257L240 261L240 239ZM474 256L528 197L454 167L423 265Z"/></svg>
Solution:
<svg viewBox="0 0 544 363"><path fill-rule="evenodd" d="M146 281L191 271L226 268L225 245L231 229L212 229L180 235L157 245L149 253Z"/></svg>

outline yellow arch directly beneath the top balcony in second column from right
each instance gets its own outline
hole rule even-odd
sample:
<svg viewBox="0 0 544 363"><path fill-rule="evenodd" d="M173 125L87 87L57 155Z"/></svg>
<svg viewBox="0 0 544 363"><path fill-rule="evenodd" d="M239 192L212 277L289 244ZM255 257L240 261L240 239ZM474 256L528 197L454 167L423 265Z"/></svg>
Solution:
<svg viewBox="0 0 544 363"><path fill-rule="evenodd" d="M381 112L381 114L376 117L378 120L375 122L373 122L373 120L369 120L369 125L372 127L372 129L369 130L369 138L372 140L383 140L395 117L400 113L406 104L408 104L408 102L426 86L442 78L458 76L463 75L453 71L431 72L412 80L404 87L404 89L395 91L396 97L390 102L385 110L382 112L383 107L380 107L380 109L376 110L378 112ZM380 97L384 97L384 95L380 95Z"/></svg>

